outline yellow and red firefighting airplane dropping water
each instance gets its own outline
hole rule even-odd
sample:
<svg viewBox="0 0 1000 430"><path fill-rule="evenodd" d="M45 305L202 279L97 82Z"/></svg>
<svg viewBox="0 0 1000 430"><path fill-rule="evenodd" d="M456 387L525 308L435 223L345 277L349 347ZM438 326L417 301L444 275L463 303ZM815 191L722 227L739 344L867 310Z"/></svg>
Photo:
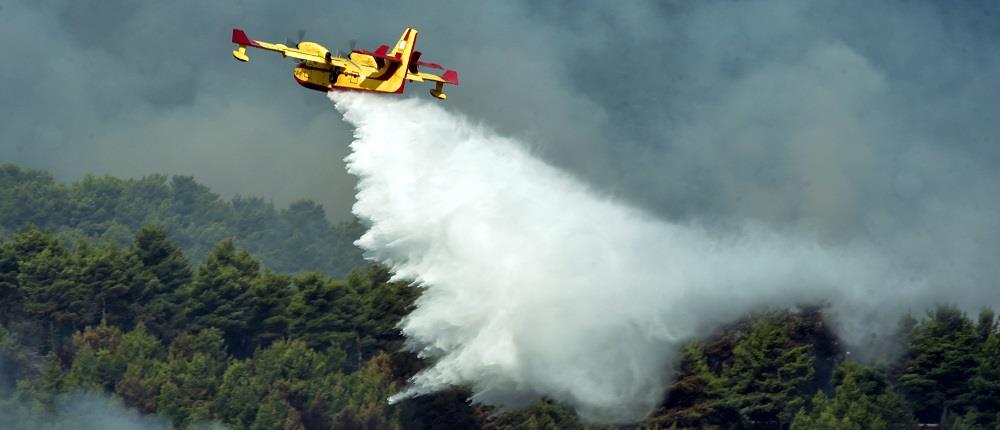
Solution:
<svg viewBox="0 0 1000 430"><path fill-rule="evenodd" d="M458 85L458 72L445 70L441 75L420 71L420 68L444 70L439 64L420 61L420 51L414 50L417 43L417 30L407 28L392 51L386 45L379 46L375 52L354 49L346 56L334 56L329 49L316 42L302 41L299 32L299 42L289 40L288 44L268 43L247 37L243 30L233 29L233 43L239 45L233 51L233 57L247 62L247 47L280 52L282 56L302 60L293 75L295 81L303 87L317 91L353 90L372 91L379 93L403 92L406 81L431 81L436 86L431 89L431 95L445 100L444 84Z"/></svg>

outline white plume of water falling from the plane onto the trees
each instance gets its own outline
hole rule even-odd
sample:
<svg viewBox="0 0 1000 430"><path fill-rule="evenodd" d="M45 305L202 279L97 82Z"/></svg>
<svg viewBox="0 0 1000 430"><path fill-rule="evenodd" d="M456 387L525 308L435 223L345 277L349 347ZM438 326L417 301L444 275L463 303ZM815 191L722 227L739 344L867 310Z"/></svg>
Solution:
<svg viewBox="0 0 1000 430"><path fill-rule="evenodd" d="M467 385L479 402L546 396L632 422L684 342L768 306L836 315L897 282L861 247L656 219L433 101L331 94L356 128L358 244L426 288L402 330L433 365L392 401Z"/></svg>

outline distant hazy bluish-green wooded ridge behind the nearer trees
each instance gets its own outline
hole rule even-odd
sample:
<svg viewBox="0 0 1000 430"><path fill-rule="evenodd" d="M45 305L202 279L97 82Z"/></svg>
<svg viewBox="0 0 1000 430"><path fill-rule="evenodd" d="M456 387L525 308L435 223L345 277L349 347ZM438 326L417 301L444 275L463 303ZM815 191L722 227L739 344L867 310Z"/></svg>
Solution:
<svg viewBox="0 0 1000 430"><path fill-rule="evenodd" d="M146 225L163 227L192 261L233 238L281 272L318 271L342 278L363 263L356 222L332 225L323 207L300 200L277 209L259 197L226 201L190 176L140 179L87 176L56 183L48 173L0 164L0 238L34 226L69 245L96 239L127 245Z"/></svg>

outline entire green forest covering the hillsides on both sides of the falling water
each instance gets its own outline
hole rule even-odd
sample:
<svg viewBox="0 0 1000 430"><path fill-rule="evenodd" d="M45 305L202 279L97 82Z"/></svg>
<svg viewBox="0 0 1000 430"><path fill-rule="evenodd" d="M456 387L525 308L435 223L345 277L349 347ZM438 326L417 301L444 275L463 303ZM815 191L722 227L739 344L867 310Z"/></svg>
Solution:
<svg viewBox="0 0 1000 430"><path fill-rule="evenodd" d="M342 278L303 266L283 273L248 252L247 236L226 237L307 231L293 219L312 220L318 230L309 231L339 231L321 210L294 218L296 205L227 203L189 178L62 186L13 166L0 172L20 187L0 190L0 220L10 226L0 241L0 428L75 428L61 405L80 393L174 428L608 428L547 400L498 413L469 404L460 388L389 405L426 365L403 351L396 328L420 289L389 282L385 268L358 265L356 255L344 257L354 269ZM256 213L247 201L270 215L241 226L234 220ZM1000 428L992 311L971 319L939 306L902 319L883 342L900 358L861 364L822 309L762 312L690 344L664 402L636 427Z"/></svg>

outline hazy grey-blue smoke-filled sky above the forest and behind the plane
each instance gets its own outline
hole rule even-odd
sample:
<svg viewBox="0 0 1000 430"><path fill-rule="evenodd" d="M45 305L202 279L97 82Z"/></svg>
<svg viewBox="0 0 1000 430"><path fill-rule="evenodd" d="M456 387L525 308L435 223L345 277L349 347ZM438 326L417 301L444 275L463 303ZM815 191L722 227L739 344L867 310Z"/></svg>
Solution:
<svg viewBox="0 0 1000 430"><path fill-rule="evenodd" d="M445 105L675 221L884 244L942 283L1000 275L1000 3L0 0L0 161L189 174L346 217L351 131L233 27L459 71ZM429 97L413 85L409 97ZM960 291L960 290L956 290Z"/></svg>

